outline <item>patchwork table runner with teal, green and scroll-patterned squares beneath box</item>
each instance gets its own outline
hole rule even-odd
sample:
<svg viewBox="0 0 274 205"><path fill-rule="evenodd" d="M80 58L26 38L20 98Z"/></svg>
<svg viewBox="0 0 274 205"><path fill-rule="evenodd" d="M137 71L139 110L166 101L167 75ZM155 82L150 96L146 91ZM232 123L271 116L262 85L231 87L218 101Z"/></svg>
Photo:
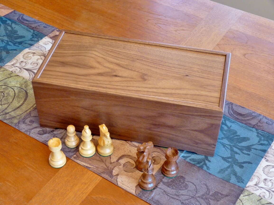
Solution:
<svg viewBox="0 0 274 205"><path fill-rule="evenodd" d="M55 27L0 5L2 121L45 144L52 137L60 138L67 157L150 204L274 203L274 121L229 101L214 157L180 150L180 172L170 179L161 174L165 149L154 147L157 185L152 191L138 186L141 172L135 160L140 143L113 139L115 151L110 157L96 153L84 158L78 147L65 146L66 130L40 127L31 80L58 33ZM95 146L98 138L92 139Z"/></svg>

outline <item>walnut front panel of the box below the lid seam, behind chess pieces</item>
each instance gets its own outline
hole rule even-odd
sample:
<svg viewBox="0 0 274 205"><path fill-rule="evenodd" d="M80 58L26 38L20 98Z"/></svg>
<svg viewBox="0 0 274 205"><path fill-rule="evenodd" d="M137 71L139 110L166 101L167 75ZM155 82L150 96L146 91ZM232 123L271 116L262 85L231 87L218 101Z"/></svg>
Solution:
<svg viewBox="0 0 274 205"><path fill-rule="evenodd" d="M62 128L89 125L99 134L105 124L113 138L176 147L213 156L221 121L159 110L100 102L92 99L34 91L41 126Z"/></svg>

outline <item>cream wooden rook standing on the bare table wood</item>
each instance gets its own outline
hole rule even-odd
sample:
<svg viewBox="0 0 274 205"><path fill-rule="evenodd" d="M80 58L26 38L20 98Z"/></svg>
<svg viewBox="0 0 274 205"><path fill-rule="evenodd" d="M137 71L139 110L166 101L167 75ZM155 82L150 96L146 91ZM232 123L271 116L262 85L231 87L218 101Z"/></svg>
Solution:
<svg viewBox="0 0 274 205"><path fill-rule="evenodd" d="M50 166L54 168L60 168L65 165L67 162L65 154L61 151L62 143L61 140L54 137L50 140L48 140L48 148L50 151L50 156L48 158L48 162L50 163Z"/></svg>

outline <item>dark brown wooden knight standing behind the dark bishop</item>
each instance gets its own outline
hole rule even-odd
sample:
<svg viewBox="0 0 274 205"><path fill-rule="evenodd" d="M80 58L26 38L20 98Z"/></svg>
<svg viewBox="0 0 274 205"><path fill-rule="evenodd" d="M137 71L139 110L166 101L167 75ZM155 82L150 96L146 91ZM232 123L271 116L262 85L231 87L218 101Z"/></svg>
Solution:
<svg viewBox="0 0 274 205"><path fill-rule="evenodd" d="M152 159L152 149L152 142L144 142L141 145L138 145L136 153L137 160L135 162L135 165L139 171L142 172L148 158Z"/></svg>

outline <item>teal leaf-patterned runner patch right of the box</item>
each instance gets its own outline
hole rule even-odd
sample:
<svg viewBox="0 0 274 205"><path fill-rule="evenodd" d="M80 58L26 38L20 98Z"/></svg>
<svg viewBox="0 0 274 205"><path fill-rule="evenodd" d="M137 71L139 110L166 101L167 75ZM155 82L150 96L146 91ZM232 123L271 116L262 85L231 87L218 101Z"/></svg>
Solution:
<svg viewBox="0 0 274 205"><path fill-rule="evenodd" d="M223 116L215 155L184 151L181 158L242 188L250 180L274 135Z"/></svg>

